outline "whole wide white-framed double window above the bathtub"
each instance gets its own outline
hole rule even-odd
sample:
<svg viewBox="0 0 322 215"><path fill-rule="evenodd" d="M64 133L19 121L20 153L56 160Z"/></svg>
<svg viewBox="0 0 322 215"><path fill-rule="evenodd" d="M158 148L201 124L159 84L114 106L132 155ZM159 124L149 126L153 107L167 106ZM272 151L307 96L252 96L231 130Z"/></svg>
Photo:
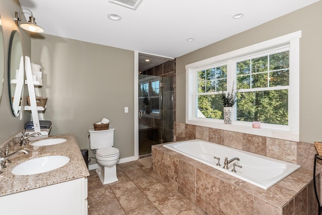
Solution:
<svg viewBox="0 0 322 215"><path fill-rule="evenodd" d="M186 65L186 123L299 141L300 35ZM220 95L232 88L238 90L234 118L224 125Z"/></svg>

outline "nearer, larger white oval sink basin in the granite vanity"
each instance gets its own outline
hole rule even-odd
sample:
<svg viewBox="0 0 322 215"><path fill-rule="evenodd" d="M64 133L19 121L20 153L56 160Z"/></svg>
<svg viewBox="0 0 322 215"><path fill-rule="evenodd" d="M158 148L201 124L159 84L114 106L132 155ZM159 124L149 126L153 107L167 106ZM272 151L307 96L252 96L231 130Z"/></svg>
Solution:
<svg viewBox="0 0 322 215"><path fill-rule="evenodd" d="M34 175L58 169L68 162L69 158L66 156L44 156L25 161L14 167L11 172L15 175Z"/></svg>

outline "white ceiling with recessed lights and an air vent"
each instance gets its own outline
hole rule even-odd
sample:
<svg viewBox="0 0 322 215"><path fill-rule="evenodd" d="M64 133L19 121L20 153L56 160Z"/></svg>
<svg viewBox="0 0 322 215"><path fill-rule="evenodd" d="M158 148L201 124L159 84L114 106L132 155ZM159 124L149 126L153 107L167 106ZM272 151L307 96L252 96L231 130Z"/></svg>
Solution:
<svg viewBox="0 0 322 215"><path fill-rule="evenodd" d="M143 0L134 11L108 0L19 0L44 34L165 57L179 57L318 1ZM122 19L112 21L109 13ZM237 13L244 17L232 19Z"/></svg>

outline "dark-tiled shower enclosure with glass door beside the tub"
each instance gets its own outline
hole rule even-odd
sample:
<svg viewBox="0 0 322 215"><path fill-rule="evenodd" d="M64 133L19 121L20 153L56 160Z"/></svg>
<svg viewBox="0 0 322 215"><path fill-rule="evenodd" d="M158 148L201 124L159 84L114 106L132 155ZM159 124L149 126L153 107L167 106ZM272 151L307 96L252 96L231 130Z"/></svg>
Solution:
<svg viewBox="0 0 322 215"><path fill-rule="evenodd" d="M173 141L174 60L143 71L138 76L139 157L151 154L151 146Z"/></svg>

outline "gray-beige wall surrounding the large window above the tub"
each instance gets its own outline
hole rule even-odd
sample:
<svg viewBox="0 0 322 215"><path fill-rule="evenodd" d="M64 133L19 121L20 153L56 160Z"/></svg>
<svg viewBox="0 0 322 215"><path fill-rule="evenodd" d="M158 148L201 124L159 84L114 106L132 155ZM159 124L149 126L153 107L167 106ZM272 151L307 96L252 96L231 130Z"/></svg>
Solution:
<svg viewBox="0 0 322 215"><path fill-rule="evenodd" d="M302 30L300 39L300 141L321 141L322 1L177 58L176 121L185 122L185 65Z"/></svg>

